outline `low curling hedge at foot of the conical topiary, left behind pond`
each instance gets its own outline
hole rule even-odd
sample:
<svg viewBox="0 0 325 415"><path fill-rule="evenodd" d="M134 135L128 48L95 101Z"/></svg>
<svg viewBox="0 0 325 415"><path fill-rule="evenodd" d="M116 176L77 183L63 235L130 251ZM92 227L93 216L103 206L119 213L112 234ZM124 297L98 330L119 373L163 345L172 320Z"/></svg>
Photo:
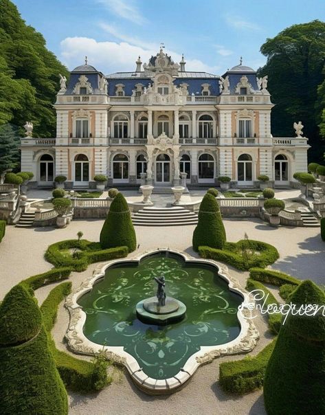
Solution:
<svg viewBox="0 0 325 415"><path fill-rule="evenodd" d="M68 249L80 249L75 256ZM93 262L106 261L115 258L124 258L128 255L127 247L101 249L98 243L89 240L68 239L49 245L45 252L45 259L54 267L70 267L74 271L85 271Z"/></svg>

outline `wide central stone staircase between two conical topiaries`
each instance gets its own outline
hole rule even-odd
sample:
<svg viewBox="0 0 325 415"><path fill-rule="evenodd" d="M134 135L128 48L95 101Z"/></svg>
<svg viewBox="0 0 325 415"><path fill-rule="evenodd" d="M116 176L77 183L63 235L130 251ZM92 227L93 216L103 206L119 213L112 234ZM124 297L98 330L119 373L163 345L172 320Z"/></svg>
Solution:
<svg viewBox="0 0 325 415"><path fill-rule="evenodd" d="M197 214L184 207L144 207L132 215L137 226L197 225Z"/></svg>

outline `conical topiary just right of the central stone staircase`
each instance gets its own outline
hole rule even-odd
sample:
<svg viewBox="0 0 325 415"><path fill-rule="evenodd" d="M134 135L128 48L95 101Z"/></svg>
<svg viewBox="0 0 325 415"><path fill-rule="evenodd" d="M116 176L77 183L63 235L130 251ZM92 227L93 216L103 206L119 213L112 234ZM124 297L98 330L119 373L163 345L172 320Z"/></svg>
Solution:
<svg viewBox="0 0 325 415"><path fill-rule="evenodd" d="M199 221L193 233L193 249L198 251L199 247L203 246L223 249L225 242L225 227L218 202L212 194L206 193L200 206Z"/></svg>

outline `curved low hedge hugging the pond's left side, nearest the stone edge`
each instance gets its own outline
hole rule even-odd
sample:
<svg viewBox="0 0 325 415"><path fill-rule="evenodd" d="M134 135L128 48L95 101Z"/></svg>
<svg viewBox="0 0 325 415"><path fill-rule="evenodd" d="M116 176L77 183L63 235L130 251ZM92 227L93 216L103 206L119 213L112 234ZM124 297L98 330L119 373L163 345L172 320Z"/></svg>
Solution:
<svg viewBox="0 0 325 415"><path fill-rule="evenodd" d="M56 322L58 305L70 292L71 282L63 282L52 289L41 305L43 322L49 337L49 347L54 356L56 368L67 388L76 392L96 392L111 382L111 379L107 376L107 361L102 357L96 357L93 362L76 359L56 349L51 337L51 330Z"/></svg>

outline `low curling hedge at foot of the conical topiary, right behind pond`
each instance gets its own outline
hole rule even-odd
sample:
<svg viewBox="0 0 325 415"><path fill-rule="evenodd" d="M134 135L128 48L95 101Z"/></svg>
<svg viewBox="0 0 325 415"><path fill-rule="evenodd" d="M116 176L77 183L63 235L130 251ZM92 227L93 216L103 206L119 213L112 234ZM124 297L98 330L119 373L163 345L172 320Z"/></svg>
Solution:
<svg viewBox="0 0 325 415"><path fill-rule="evenodd" d="M259 255L243 257L240 250L247 246L252 251L258 251ZM248 271L251 267L267 267L273 264L278 258L278 250L268 243L260 240L239 240L237 243L228 242L225 249L214 249L210 247L199 247L199 254L202 258L210 258L216 261L225 262L232 267L242 271ZM255 279L255 278L254 278Z"/></svg>

